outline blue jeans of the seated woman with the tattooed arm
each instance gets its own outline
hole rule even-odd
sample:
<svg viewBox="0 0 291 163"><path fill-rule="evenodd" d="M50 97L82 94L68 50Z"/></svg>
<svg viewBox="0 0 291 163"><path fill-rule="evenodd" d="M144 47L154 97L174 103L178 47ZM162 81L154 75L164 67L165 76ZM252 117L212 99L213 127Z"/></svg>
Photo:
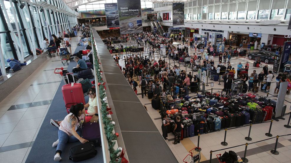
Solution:
<svg viewBox="0 0 291 163"><path fill-rule="evenodd" d="M77 134L79 136L82 135L82 129L78 129L76 132L77 132ZM62 154L62 151L64 150L67 142L77 142L77 141L79 141L73 135L69 136L67 133L63 132L62 130L59 130L58 135L59 135L59 144L57 144L56 153Z"/></svg>

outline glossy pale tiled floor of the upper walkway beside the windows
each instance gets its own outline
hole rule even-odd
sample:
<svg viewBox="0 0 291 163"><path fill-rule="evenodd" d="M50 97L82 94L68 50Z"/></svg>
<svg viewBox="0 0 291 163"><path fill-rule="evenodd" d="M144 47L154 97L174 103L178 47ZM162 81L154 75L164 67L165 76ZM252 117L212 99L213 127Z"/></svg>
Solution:
<svg viewBox="0 0 291 163"><path fill-rule="evenodd" d="M74 52L79 37L70 42ZM1 162L25 162L62 80L53 73L60 67L67 65L61 63L59 56L47 57L46 62L0 102Z"/></svg>

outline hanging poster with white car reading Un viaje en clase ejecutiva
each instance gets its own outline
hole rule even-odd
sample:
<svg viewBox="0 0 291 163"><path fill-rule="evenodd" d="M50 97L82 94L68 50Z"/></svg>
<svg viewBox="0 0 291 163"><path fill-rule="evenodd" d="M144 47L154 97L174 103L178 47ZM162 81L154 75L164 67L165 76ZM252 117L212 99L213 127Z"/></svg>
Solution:
<svg viewBox="0 0 291 163"><path fill-rule="evenodd" d="M107 28L119 27L117 3L105 4Z"/></svg>

